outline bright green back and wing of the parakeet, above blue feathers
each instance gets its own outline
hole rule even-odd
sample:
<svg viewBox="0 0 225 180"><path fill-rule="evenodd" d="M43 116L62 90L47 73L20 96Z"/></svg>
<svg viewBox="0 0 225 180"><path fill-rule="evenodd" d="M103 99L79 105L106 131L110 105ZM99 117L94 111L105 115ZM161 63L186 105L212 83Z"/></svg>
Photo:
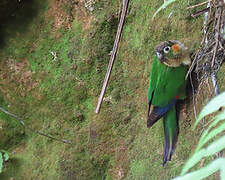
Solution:
<svg viewBox="0 0 225 180"><path fill-rule="evenodd" d="M178 95L185 98L186 72L184 66L168 67L154 57L148 89L149 104L165 107Z"/></svg>

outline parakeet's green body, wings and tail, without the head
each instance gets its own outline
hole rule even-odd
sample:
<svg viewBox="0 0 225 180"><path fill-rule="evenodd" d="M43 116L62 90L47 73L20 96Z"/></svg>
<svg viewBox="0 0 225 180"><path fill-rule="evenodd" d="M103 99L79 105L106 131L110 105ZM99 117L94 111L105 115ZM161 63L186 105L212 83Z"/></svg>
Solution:
<svg viewBox="0 0 225 180"><path fill-rule="evenodd" d="M186 73L187 67L184 65L169 67L162 64L157 57L154 57L148 89L149 108L147 126L151 127L158 119L164 117L165 143L163 165L166 164L167 160L171 160L176 147L179 127L175 105L177 99L184 99L186 97ZM151 105L154 108L150 113ZM163 109L165 113L161 113L159 109Z"/></svg>

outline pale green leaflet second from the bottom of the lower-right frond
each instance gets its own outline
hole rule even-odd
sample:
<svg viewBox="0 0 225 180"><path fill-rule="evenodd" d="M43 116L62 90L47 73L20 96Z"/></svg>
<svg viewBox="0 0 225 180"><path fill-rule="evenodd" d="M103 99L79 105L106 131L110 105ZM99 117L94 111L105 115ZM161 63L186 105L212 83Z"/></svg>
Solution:
<svg viewBox="0 0 225 180"><path fill-rule="evenodd" d="M196 152L185 164L182 169L181 175L184 175L188 172L190 168L192 168L195 164L197 164L203 157L211 156L217 152L220 152L225 148L225 136L216 140L212 144L210 144L207 148L201 149Z"/></svg>

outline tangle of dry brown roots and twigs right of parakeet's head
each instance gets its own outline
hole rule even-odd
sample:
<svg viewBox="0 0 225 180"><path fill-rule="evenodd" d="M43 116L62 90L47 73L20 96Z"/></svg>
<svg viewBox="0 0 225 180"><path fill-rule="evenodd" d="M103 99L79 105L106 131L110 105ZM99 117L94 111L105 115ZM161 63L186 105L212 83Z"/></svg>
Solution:
<svg viewBox="0 0 225 180"><path fill-rule="evenodd" d="M197 74L198 84L210 78L213 85L212 92L218 95L217 72L225 60L225 2L209 0L207 3L202 10L192 14L192 17L204 14L204 24L201 48L194 54L188 75L194 71ZM204 4L206 2L191 6L189 9Z"/></svg>

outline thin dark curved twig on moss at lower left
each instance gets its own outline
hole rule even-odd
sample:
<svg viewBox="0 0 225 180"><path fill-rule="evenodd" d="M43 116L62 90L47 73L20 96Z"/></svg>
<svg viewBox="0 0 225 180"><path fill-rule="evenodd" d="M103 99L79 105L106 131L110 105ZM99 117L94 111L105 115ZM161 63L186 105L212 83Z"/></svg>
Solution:
<svg viewBox="0 0 225 180"><path fill-rule="evenodd" d="M24 128L30 130L33 133L39 134L41 136L44 136L44 137L47 137L49 139L52 139L52 140L55 140L55 141L59 141L59 142L65 143L65 144L72 144L72 142L69 141L69 140L66 140L66 139L58 139L58 138L52 137L50 135L44 134L44 133L42 133L40 131L36 131L36 130L34 130L34 129L28 127L28 126L26 126L25 123L19 117L17 117L15 114L13 114L13 113L11 113L9 111L6 111L2 107L0 107L0 111L4 112L5 114L8 114L9 116L14 117Z"/></svg>

